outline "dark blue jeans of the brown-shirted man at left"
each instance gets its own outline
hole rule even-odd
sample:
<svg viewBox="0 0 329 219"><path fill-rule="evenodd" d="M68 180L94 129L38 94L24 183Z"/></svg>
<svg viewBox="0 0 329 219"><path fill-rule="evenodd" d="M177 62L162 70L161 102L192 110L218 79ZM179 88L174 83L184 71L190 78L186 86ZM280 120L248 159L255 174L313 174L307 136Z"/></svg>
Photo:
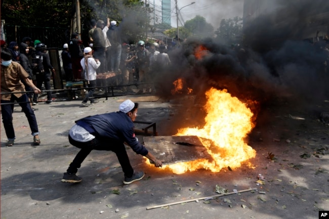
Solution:
<svg viewBox="0 0 329 219"><path fill-rule="evenodd" d="M10 100L1 100L1 103L4 103L4 105L1 105L1 114L3 117L4 128L6 130L8 140L15 140L15 130L13 126L14 104L8 104L14 103L15 100L22 107L22 110L25 113L28 124L30 125L32 136L39 135L35 114L31 108L27 95L24 94L20 98L12 95Z"/></svg>

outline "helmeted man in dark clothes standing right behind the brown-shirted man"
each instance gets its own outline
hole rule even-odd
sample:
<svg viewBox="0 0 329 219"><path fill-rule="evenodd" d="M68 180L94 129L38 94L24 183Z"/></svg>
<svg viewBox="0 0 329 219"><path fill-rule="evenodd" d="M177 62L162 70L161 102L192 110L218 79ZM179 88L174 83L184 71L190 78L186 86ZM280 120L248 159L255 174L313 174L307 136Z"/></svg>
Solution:
<svg viewBox="0 0 329 219"><path fill-rule="evenodd" d="M55 69L50 63L49 54L47 53L47 46L40 42L35 46L35 56L38 57L38 59L42 59L42 65L44 70L42 72L38 72L36 74L36 87L41 90L43 83L45 83L45 88L47 91L51 90L50 87L50 79L51 79L51 73L50 69L53 73L55 73ZM33 96L33 102L37 102L38 95ZM52 103L52 92L47 92L47 104Z"/></svg>

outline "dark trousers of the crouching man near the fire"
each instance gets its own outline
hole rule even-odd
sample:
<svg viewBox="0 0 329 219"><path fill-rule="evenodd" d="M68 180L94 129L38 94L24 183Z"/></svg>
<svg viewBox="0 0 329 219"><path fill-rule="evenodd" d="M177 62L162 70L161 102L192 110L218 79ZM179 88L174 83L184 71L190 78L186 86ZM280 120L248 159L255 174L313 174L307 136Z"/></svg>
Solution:
<svg viewBox="0 0 329 219"><path fill-rule="evenodd" d="M124 171L125 176L131 178L134 174L134 169L130 164L129 157L125 148L124 143L111 142L108 139L101 139L96 137L89 142L77 142L68 135L68 140L71 145L80 148L81 150L76 154L73 161L70 163L67 173L76 173L77 169L80 168L81 163L84 162L86 157L90 154L92 150L98 151L113 151Z"/></svg>

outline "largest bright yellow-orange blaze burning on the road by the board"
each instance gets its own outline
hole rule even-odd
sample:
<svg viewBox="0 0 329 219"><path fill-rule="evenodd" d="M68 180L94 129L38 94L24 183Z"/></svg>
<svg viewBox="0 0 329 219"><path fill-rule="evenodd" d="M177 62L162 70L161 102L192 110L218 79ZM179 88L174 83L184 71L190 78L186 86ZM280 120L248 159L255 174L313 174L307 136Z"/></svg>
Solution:
<svg viewBox="0 0 329 219"><path fill-rule="evenodd" d="M253 127L252 111L226 90L210 89L206 93L207 111L202 128L182 128L177 136L198 136L213 161L204 159L167 165L174 173L209 169L219 172L224 167L232 169L256 156L256 151L244 142Z"/></svg>

